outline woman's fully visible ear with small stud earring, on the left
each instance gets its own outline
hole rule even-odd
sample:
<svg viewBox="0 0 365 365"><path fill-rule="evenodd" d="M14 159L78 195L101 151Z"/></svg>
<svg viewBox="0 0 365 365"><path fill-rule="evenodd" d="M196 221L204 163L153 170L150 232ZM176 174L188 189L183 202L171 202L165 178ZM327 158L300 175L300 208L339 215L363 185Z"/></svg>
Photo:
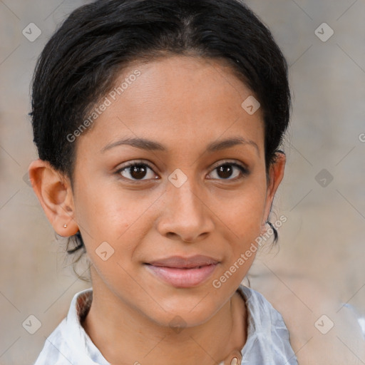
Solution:
<svg viewBox="0 0 365 365"><path fill-rule="evenodd" d="M78 232L71 182L41 159L29 165L29 178L46 216L58 235L68 237ZM66 225L66 227L64 227Z"/></svg>

